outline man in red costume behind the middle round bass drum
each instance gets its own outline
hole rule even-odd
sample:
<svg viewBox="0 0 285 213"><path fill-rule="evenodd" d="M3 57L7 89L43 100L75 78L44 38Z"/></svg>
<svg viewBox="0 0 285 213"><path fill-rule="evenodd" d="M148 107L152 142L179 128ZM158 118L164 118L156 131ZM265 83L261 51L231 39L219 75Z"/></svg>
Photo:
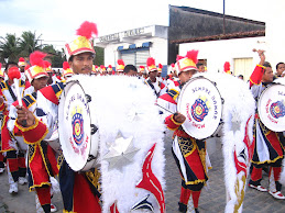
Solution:
<svg viewBox="0 0 285 213"><path fill-rule="evenodd" d="M187 52L186 57L177 56L175 66L178 72L179 85L168 88L168 92L157 99L157 105L162 107L162 109L167 109L167 111L162 113L169 114L169 112L175 112L165 117L165 124L169 130L174 131L172 152L182 176L182 191L178 202L179 212L187 212L187 203L190 197L194 210L198 212L200 192L208 180L205 165L205 142L193 138L183 130L182 124L186 117L177 112L179 91L191 76L197 72L197 55L198 51L190 51Z"/></svg>

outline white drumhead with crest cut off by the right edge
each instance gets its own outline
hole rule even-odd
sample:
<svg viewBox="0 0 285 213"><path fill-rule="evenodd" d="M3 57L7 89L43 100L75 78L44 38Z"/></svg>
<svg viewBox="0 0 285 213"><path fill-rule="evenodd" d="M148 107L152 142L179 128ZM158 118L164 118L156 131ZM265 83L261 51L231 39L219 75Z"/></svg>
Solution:
<svg viewBox="0 0 285 213"><path fill-rule="evenodd" d="M262 123L274 132L285 131L285 86L272 85L260 96L257 111Z"/></svg>

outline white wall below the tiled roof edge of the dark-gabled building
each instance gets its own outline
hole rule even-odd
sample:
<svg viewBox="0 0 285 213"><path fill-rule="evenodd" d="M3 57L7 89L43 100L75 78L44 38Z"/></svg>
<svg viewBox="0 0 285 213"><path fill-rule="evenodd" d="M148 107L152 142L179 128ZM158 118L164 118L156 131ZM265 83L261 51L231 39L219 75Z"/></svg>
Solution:
<svg viewBox="0 0 285 213"><path fill-rule="evenodd" d="M187 51L198 49L198 59L207 59L208 71L223 71L223 64L231 64L233 70L234 58L253 58L252 70L259 63L259 56L253 48L262 48L265 37L234 38L210 42L179 44L179 55L185 56ZM248 79L246 79L248 80Z"/></svg>

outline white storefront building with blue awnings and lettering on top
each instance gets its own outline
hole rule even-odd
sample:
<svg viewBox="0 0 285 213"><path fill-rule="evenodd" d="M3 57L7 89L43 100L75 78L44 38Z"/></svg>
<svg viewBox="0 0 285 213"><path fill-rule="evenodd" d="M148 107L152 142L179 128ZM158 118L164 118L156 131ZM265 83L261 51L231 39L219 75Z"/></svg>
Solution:
<svg viewBox="0 0 285 213"><path fill-rule="evenodd" d="M95 41L96 46L105 48L105 65L116 67L118 59L124 64L145 66L147 57L154 57L156 64L167 70L167 26L151 25L110 35Z"/></svg>

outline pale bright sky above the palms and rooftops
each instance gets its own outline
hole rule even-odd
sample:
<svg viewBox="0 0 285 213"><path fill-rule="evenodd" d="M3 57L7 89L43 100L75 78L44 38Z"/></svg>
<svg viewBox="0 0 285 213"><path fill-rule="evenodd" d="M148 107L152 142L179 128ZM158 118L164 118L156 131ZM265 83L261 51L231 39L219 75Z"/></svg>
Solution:
<svg viewBox="0 0 285 213"><path fill-rule="evenodd" d="M264 21L266 0L224 0L226 14ZM222 13L223 0L0 0L0 36L23 31L63 47L84 21L97 23L99 36L147 25L168 25L168 4Z"/></svg>

